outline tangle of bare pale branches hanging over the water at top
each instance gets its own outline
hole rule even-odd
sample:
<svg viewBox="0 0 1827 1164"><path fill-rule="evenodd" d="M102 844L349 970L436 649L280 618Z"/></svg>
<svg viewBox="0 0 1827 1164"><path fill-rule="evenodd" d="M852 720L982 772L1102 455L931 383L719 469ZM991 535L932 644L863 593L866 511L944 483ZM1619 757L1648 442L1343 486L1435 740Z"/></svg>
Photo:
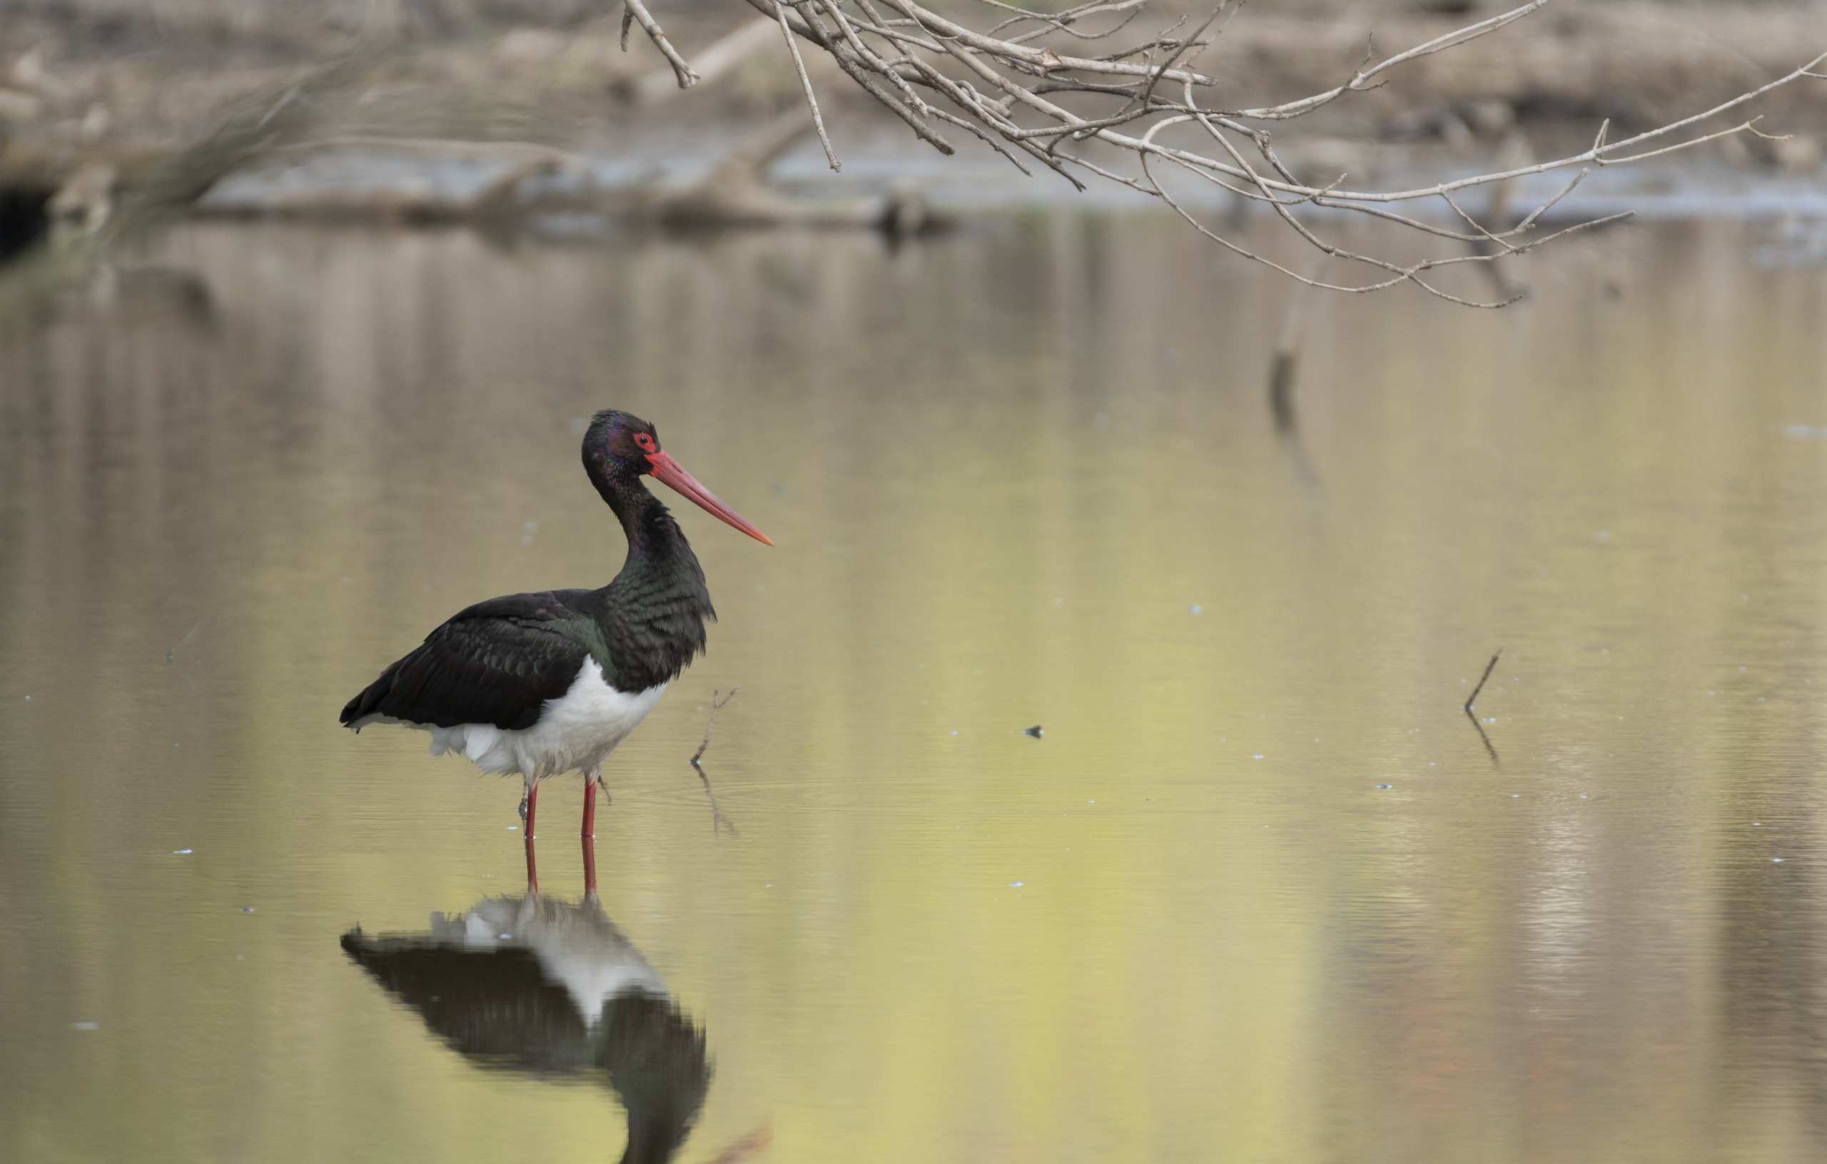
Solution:
<svg viewBox="0 0 1827 1164"><path fill-rule="evenodd" d="M643 11L638 7L639 0L628 2L630 13L639 18ZM1756 119L1723 130L1708 130L1706 122L1778 88L1803 79L1827 77L1827 73L1816 71L1827 60L1827 53L1822 53L1800 69L1732 101L1621 141L1608 139L1611 124L1606 122L1591 148L1582 153L1533 161L1526 150L1518 153L1511 148L1504 157L1511 164L1496 172L1473 174L1410 190L1354 190L1345 186L1345 174L1325 185L1314 185L1314 181L1297 175L1277 155L1270 132L1261 128L1262 122L1273 124L1304 117L1346 93L1376 88L1399 68L1498 33L1540 11L1547 0L1516 4L1504 13L1465 24L1383 58L1376 57L1376 40L1372 38L1363 60L1343 84L1299 101L1251 110L1202 104L1199 91L1209 90L1215 80L1191 68L1191 62L1222 37L1226 22L1242 7L1244 0L1217 0L1202 24L1189 35L1182 35L1180 22L1173 22L1140 44L1098 57L1076 57L1058 49L1074 40L1096 42L1113 37L1144 11L1146 0L1087 0L1060 13L1030 13L1009 0L983 0L987 7L1009 13L987 33L924 7L919 0L747 2L780 24L833 170L837 155L824 133L824 119L813 95L806 62L800 58L798 40L829 53L844 75L941 152L950 153L952 148L934 132L934 122L970 132L1023 174L1032 174L1023 164L1021 155L1025 153L1027 159L1051 168L1080 190L1085 185L1076 174L1083 172L1160 199L1195 230L1226 250L1264 263L1308 287L1363 294L1414 283L1427 294L1469 307L1502 307L1520 296L1505 294L1498 302L1469 300L1440 287L1434 281L1434 272L1467 263L1494 270L1489 267L1491 263L1527 254L1573 230L1622 217L1610 216L1575 223L1546 236L1535 234L1542 216L1560 205L1593 166L1661 157L1734 133L1761 135L1754 124ZM877 11L877 4L888 15ZM1096 31L1083 24L1093 16L1118 16L1118 20L1104 31ZM1049 38L1052 44L1047 44ZM1056 93L1082 97L1067 106L1051 99ZM1204 133L1215 150L1202 153L1175 144L1182 139L1182 130ZM1067 144L1089 141L1100 143L1091 153L1065 150ZM1277 221L1308 249L1325 259L1339 259L1345 270L1363 269L1359 274L1370 278L1354 281L1346 276L1339 281L1321 281L1317 276L1304 276L1264 254L1241 247L1235 239L1200 223L1184 199L1158 181L1158 163L1167 163L1177 172L1209 183L1211 188L1241 197L1248 205L1268 206ZM1513 227L1504 228L1504 221L1509 219L1509 196L1518 179L1573 168L1579 168L1579 174L1553 197L1524 214ZM1485 214L1487 223L1474 219L1456 197L1463 190L1480 186L1493 188ZM1438 201L1445 208L1449 216L1445 225L1427 221L1418 212L1403 212L1401 206L1403 203L1423 203L1425 206L1429 201ZM1312 216L1306 214L1306 208L1365 216L1440 239L1440 252L1396 261L1352 250L1326 238L1330 227L1326 227L1326 234L1321 234L1317 225L1310 225L1306 219ZM1467 245L1473 254L1465 254ZM1317 267L1314 270L1317 272ZM1504 278L1496 278L1500 289L1513 287Z"/></svg>

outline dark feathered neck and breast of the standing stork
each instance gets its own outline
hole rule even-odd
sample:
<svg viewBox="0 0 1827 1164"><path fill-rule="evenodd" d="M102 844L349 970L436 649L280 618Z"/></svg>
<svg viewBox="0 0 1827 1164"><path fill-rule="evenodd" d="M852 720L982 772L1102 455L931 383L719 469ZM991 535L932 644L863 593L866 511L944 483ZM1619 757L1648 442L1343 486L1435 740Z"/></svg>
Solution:
<svg viewBox="0 0 1827 1164"><path fill-rule="evenodd" d="M621 572L596 592L596 621L610 652L605 663L618 691L645 691L676 678L703 651L703 625L716 610L685 532L639 477L597 479L597 492L628 535Z"/></svg>

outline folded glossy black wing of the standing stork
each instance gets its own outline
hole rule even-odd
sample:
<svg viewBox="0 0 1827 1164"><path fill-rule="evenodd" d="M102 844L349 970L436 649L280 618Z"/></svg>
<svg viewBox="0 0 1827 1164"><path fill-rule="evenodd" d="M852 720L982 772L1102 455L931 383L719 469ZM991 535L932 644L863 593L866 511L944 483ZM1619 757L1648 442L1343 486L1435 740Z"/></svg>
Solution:
<svg viewBox="0 0 1827 1164"><path fill-rule="evenodd" d="M360 727L369 716L387 716L433 727L532 727L544 702L570 689L601 638L585 612L588 594L510 594L470 607L349 700L342 722Z"/></svg>

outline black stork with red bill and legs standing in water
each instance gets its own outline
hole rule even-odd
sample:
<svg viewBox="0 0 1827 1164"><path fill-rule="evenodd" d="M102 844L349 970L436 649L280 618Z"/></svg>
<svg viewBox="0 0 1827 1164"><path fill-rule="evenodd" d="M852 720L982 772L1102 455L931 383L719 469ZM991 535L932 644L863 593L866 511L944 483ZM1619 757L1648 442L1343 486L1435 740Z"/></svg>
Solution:
<svg viewBox="0 0 1827 1164"><path fill-rule="evenodd" d="M583 468L628 535L621 572L599 590L508 594L460 610L342 709L354 731L418 727L431 755L519 773L528 842L539 782L566 771L585 777L583 835L594 835L603 760L703 651L703 623L716 618L698 557L641 477L775 545L661 451L639 417L597 413Z"/></svg>

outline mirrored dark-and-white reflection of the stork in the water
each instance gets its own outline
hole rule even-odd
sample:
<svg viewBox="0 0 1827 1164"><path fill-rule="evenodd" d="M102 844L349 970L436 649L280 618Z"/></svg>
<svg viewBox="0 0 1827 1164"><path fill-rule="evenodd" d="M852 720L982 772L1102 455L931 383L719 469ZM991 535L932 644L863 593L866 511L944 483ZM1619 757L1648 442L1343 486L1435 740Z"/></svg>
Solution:
<svg viewBox="0 0 1827 1164"><path fill-rule="evenodd" d="M342 948L477 1065L614 1089L628 1113L623 1164L671 1160L691 1133L711 1087L703 1029L594 890L576 903L535 888L486 897L433 914L429 934L354 928Z"/></svg>

